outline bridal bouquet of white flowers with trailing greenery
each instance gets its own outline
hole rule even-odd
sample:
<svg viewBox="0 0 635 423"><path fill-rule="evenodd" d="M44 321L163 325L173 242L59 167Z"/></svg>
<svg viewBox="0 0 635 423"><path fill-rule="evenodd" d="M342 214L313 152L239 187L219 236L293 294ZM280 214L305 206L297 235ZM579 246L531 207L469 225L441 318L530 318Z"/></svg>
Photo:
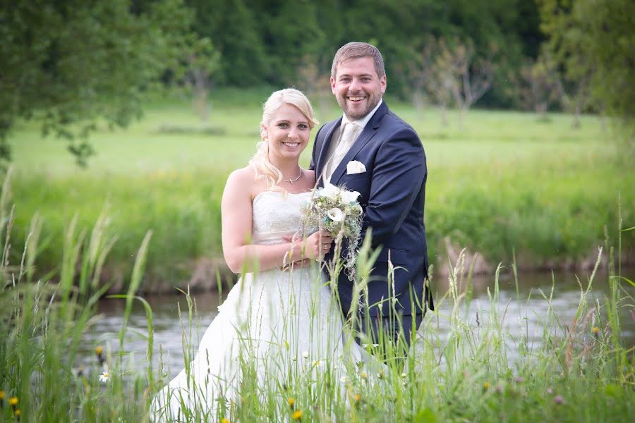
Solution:
<svg viewBox="0 0 635 423"><path fill-rule="evenodd" d="M311 199L303 207L301 223L307 228L327 231L335 240L336 250L342 240L348 248L344 268L349 280L355 279L355 259L361 238L361 205L357 201L359 192L339 188L332 184L314 189Z"/></svg>

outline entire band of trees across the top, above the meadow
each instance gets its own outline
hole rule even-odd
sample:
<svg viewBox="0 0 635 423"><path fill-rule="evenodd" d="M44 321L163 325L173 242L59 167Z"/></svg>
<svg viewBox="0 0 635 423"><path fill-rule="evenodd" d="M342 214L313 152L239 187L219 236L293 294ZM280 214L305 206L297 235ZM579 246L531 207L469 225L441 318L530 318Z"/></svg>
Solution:
<svg viewBox="0 0 635 423"><path fill-rule="evenodd" d="M593 111L632 140L632 16L632 0L4 1L0 167L32 118L86 164L99 122L128 125L164 88L185 89L203 120L217 87L296 86L322 106L350 41L379 47L389 94L437 106L444 123L474 104L576 123Z"/></svg>

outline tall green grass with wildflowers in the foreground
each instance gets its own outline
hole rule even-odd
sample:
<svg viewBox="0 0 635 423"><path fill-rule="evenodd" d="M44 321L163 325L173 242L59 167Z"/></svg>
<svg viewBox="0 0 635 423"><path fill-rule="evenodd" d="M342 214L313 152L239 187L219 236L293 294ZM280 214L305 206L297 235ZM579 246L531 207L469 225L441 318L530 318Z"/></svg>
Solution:
<svg viewBox="0 0 635 423"><path fill-rule="evenodd" d="M16 411L20 410L22 422L147 421L150 400L167 381L167 364L155 369L148 360L150 364L140 367L120 341L119 350L105 348L93 356L92 364L80 367L87 359L85 351L97 347L83 345L83 334L98 318L95 304L106 288L92 281L99 277L99 263L114 237L103 223L108 215L99 218L92 231L82 230L78 223L69 224L61 239L50 241L61 249L58 277L55 281L34 278L32 265L41 251L38 242L43 223L39 217L32 220L25 237L28 241L23 245L6 236L16 218L9 184L6 178L0 201L0 233L5 240L0 261L0 390L4 394L0 419L17 421ZM621 227L618 230L631 232L622 232ZM85 239L90 247L80 254ZM135 295L154 242L154 235L152 240L146 235L135 257L131 257L133 271L127 276L124 320L128 319L131 302L143 302ZM619 250L619 238L617 242ZM12 257L7 252L13 249L22 251L16 262L7 259ZM610 247L607 250L612 251ZM363 256L359 267L362 276L368 264ZM343 393L341 382L329 379L336 363L326 364L320 372L313 372L310 363L298 363L298 372L285 386L263 388L256 382L257 364L243 360L243 384L238 395L229 398L231 402L222 416L214 417L231 422L291 421L301 412L303 421L315 422L602 422L622 421L633 414L634 350L624 345L619 331L620 310L634 307L629 288L632 281L615 273L611 266L610 295L592 301L594 273L581 284L574 321L560 320L555 307L541 316L544 331L542 343L536 347L524 336L517 338L502 329L507 305L500 302L498 272L489 307L472 314L473 310L466 307L471 281L462 276L463 266L460 257L449 278L449 291L437 298L437 310L451 311L428 312L407 360L391 343L369 346L384 354L386 371L345 364L348 377ZM550 293L538 295L551 303ZM195 305L189 295L186 298L186 362L169 363L176 368L186 366L194 352L191 337ZM147 355L151 359L157 345L153 345L152 310L147 303L145 310ZM449 321L447 336L435 330L441 319ZM519 329L522 327L519 321ZM124 324L120 339L125 331ZM513 362L508 355L510 345L520 352ZM104 371L109 374L105 383L99 381ZM9 398L16 398L17 403L11 405ZM200 416L194 421L208 421L202 419L205 409L194 412Z"/></svg>

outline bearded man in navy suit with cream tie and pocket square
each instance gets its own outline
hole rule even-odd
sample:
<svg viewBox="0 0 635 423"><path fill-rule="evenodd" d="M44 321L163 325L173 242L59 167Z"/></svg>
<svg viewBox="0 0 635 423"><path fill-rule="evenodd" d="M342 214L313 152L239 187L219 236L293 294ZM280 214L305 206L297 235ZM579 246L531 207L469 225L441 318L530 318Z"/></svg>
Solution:
<svg viewBox="0 0 635 423"><path fill-rule="evenodd" d="M380 327L394 341L403 333L407 346L425 309L433 309L426 286L423 204L428 171L423 146L415 130L382 101L386 73L375 46L349 42L341 47L333 59L331 90L344 116L317 132L310 168L319 186L332 183L361 193L362 239L372 228L373 249L382 246L368 281L371 307L361 316L361 330L370 329L367 335L374 342ZM394 266L391 284L389 259ZM348 316L353 283L344 271L337 286L342 311Z"/></svg>

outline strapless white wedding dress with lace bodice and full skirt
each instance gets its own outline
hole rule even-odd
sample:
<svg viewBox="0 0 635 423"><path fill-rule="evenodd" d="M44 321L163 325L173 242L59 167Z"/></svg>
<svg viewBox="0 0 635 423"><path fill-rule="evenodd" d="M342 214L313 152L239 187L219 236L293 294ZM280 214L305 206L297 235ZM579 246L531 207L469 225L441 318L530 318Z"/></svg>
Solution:
<svg viewBox="0 0 635 423"><path fill-rule="evenodd" d="M309 198L309 192L261 192L252 204L253 243L282 243L284 235L301 231L301 204ZM191 364L152 400L150 417L215 421L229 414L245 377L266 393L279 391L307 367L319 371L330 363L344 372L343 362L364 355L346 341L341 313L317 265L246 274L219 307Z"/></svg>

